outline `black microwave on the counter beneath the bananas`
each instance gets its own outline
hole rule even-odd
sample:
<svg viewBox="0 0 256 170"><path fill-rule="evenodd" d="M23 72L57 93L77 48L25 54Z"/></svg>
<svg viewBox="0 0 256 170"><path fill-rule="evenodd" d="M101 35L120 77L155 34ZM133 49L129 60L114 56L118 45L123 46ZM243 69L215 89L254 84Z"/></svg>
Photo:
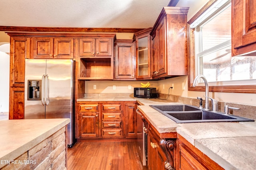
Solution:
<svg viewBox="0 0 256 170"><path fill-rule="evenodd" d="M134 97L136 98L157 98L156 88L134 88Z"/></svg>

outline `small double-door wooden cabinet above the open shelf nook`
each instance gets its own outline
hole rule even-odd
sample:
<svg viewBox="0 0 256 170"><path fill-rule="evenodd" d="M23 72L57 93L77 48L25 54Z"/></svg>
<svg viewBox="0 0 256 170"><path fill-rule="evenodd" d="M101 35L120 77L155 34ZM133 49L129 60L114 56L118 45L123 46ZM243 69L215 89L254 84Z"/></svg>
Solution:
<svg viewBox="0 0 256 170"><path fill-rule="evenodd" d="M80 38L80 56L112 56L113 38Z"/></svg>

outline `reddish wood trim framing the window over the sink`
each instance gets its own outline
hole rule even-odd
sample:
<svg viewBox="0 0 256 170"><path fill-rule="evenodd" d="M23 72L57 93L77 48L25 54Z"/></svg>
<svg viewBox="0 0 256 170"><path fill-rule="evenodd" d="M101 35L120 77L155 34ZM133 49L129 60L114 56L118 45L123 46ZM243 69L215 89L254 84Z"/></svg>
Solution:
<svg viewBox="0 0 256 170"><path fill-rule="evenodd" d="M192 87L195 78L195 38L194 29L190 28L192 23L216 0L210 0L199 12L188 21L188 90L205 91L205 86ZM207 7L207 8L206 8ZM229 93L256 93L256 85L234 85L234 86L209 86L210 92L229 92Z"/></svg>

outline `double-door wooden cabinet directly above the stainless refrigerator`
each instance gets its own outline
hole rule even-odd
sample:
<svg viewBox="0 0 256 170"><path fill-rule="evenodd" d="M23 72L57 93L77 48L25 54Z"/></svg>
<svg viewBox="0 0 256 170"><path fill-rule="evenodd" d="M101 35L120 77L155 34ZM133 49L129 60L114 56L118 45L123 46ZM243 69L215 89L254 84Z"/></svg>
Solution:
<svg viewBox="0 0 256 170"><path fill-rule="evenodd" d="M73 59L74 38L33 37L33 59Z"/></svg>

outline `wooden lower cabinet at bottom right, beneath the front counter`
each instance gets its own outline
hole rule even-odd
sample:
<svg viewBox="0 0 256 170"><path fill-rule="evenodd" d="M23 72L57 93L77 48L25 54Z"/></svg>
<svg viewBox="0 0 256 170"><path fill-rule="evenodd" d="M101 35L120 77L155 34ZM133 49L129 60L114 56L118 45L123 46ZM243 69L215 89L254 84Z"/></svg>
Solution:
<svg viewBox="0 0 256 170"><path fill-rule="evenodd" d="M177 170L224 170L180 135L178 153Z"/></svg>

